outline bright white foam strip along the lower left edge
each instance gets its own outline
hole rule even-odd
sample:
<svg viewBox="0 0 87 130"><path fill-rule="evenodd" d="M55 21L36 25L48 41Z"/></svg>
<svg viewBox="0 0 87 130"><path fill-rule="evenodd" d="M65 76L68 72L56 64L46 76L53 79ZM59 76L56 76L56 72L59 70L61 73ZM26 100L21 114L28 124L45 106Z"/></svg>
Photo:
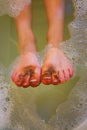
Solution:
<svg viewBox="0 0 87 130"><path fill-rule="evenodd" d="M3 68L0 66L0 130L7 128L10 123L11 101L10 85L6 81Z"/></svg>

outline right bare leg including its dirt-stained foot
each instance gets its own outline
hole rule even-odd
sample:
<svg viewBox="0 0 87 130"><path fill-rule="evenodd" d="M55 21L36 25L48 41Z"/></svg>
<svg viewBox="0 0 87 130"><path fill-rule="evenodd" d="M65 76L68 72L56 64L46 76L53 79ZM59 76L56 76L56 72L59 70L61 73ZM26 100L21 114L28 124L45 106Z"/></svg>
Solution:
<svg viewBox="0 0 87 130"><path fill-rule="evenodd" d="M44 0L48 17L47 42L52 47L48 50L42 66L42 82L59 84L69 80L73 67L63 51L59 48L63 40L64 0Z"/></svg>

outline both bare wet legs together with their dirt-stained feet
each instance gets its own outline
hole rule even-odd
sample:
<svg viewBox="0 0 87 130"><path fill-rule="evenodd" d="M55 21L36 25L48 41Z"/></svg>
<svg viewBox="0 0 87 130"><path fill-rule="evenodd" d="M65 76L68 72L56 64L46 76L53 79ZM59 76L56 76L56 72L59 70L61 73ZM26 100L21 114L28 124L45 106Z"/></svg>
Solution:
<svg viewBox="0 0 87 130"><path fill-rule="evenodd" d="M29 4L15 18L19 39L19 50L22 56L13 73L12 80L18 87L37 87L61 84L73 76L73 66L62 50L58 48L63 40L64 0L44 0L48 18L47 43L51 48L40 66L36 56L36 40L32 32L32 4ZM57 47L57 48L55 48ZM32 53L31 53L32 52ZM26 55L24 55L26 53Z"/></svg>

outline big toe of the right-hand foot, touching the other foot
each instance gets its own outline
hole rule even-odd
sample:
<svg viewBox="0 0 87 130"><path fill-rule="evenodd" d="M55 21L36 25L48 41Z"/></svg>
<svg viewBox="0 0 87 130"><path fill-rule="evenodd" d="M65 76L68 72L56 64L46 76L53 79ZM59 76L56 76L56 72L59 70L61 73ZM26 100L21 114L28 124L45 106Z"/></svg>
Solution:
<svg viewBox="0 0 87 130"><path fill-rule="evenodd" d="M41 80L42 80L42 83L45 84L45 85L51 84L51 80L52 80L51 73L49 71L45 71L42 74L42 79Z"/></svg>

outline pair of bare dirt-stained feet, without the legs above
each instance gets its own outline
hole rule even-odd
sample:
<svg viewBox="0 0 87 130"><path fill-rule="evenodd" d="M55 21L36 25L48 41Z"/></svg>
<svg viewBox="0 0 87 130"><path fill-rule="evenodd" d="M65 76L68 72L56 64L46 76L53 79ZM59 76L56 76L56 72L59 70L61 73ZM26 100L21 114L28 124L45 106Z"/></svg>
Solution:
<svg viewBox="0 0 87 130"><path fill-rule="evenodd" d="M58 48L51 48L46 54L42 70L34 54L22 56L12 74L12 80L18 87L24 88L37 87L41 82L45 85L58 85L68 81L73 71L65 54Z"/></svg>

